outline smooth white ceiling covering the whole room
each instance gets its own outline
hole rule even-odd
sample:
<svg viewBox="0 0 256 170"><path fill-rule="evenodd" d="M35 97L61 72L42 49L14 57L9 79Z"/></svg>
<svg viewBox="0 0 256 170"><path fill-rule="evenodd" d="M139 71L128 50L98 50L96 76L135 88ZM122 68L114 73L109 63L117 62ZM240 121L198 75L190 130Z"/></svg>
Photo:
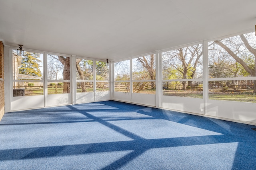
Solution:
<svg viewBox="0 0 256 170"><path fill-rule="evenodd" d="M254 30L256 0L0 0L5 45L112 61Z"/></svg>

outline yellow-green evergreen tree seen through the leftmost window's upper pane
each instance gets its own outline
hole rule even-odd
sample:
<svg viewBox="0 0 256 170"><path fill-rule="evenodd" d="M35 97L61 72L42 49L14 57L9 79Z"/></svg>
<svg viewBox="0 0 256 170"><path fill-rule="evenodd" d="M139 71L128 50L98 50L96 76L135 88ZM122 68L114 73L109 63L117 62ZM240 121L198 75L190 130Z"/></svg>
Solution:
<svg viewBox="0 0 256 170"><path fill-rule="evenodd" d="M42 77L42 73L39 69L41 67L39 63L42 63L42 61L38 59L40 55L40 53L24 52L24 57L22 57L19 73Z"/></svg>

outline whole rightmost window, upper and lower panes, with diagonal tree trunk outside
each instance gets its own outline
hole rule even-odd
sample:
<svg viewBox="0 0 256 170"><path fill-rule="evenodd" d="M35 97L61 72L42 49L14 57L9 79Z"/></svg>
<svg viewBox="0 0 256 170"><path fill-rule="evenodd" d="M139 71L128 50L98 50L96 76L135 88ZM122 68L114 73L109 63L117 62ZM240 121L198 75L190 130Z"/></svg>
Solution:
<svg viewBox="0 0 256 170"><path fill-rule="evenodd" d="M255 47L254 32L208 43L209 99L256 102Z"/></svg>

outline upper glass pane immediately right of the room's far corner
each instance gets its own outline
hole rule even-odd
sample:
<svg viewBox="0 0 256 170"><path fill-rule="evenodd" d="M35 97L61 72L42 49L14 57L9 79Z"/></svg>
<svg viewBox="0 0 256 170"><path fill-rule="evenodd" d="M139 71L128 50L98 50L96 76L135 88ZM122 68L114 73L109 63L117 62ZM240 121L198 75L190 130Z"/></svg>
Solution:
<svg viewBox="0 0 256 170"><path fill-rule="evenodd" d="M114 63L114 80L130 80L130 60Z"/></svg>

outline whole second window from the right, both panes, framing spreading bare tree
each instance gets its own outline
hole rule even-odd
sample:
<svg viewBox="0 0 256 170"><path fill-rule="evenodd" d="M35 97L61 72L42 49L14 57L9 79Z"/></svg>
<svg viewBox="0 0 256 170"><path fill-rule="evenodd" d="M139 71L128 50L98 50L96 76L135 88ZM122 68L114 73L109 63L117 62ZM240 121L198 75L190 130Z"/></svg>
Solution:
<svg viewBox="0 0 256 170"><path fill-rule="evenodd" d="M202 44L162 53L164 96L203 98Z"/></svg>

